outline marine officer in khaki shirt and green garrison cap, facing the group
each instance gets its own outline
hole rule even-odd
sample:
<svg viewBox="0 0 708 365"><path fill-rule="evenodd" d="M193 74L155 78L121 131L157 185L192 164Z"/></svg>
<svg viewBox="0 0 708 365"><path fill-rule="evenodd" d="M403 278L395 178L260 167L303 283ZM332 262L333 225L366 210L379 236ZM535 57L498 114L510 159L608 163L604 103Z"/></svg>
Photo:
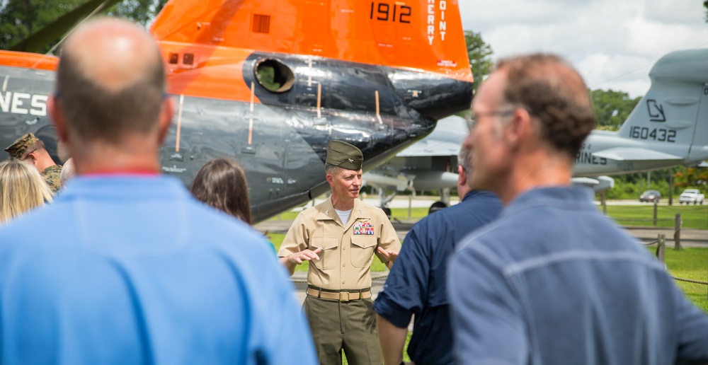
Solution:
<svg viewBox="0 0 708 365"><path fill-rule="evenodd" d="M278 257L290 274L303 261L304 311L320 364L382 364L372 310L370 267L374 255L391 268L401 243L384 212L357 199L363 156L343 141L327 145L325 173L330 199L301 212Z"/></svg>

